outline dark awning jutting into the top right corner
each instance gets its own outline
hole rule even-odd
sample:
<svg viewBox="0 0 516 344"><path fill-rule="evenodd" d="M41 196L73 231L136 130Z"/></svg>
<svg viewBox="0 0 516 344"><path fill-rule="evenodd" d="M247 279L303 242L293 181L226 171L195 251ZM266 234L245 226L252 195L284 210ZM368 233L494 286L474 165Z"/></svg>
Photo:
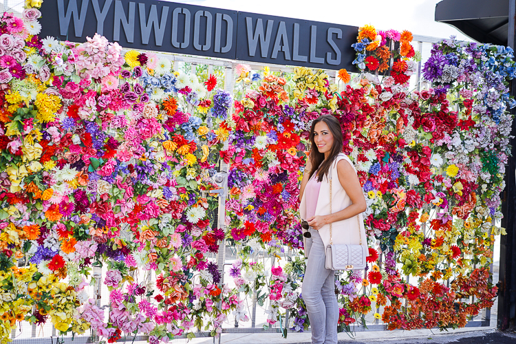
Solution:
<svg viewBox="0 0 516 344"><path fill-rule="evenodd" d="M455 26L480 43L507 45L509 0L443 0L436 21Z"/></svg>

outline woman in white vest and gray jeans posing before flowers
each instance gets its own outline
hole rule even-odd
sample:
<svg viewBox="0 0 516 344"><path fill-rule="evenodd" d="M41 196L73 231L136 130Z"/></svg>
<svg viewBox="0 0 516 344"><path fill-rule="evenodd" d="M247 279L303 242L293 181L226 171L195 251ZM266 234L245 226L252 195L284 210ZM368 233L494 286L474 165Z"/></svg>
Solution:
<svg viewBox="0 0 516 344"><path fill-rule="evenodd" d="M312 148L299 192L301 219L306 219L310 226L308 232L303 234L308 262L301 294L312 327L312 343L336 344L338 303L335 296L335 272L325 268L325 245L329 243L330 237L328 225L356 217L365 211L366 204L354 166L341 153L343 136L338 120L331 115L314 120L310 129L310 142ZM332 184L333 204L330 215L328 173L334 162L338 182L334 180ZM333 233L335 235L348 235L350 244L358 244L358 233ZM355 241L354 236L357 242L352 242Z"/></svg>

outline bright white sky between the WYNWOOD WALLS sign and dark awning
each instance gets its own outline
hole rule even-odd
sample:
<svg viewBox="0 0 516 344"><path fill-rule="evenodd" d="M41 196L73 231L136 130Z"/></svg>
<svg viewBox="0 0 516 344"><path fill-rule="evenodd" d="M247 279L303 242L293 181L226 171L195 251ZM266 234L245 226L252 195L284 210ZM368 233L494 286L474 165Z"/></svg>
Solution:
<svg viewBox="0 0 516 344"><path fill-rule="evenodd" d="M413 34L471 41L453 26L433 20L440 0L172 0L279 17L344 25L374 25L379 30L409 30Z"/></svg>

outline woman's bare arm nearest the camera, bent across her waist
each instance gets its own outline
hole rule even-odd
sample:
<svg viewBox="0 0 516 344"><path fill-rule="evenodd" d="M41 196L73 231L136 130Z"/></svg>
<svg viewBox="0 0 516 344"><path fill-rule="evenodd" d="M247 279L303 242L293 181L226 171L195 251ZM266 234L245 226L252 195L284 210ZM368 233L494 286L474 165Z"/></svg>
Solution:
<svg viewBox="0 0 516 344"><path fill-rule="evenodd" d="M341 185L346 191L347 195L350 196L352 204L341 211L337 211L336 213L314 216L312 221L308 219L310 226L316 230L319 230L325 224L331 224L332 222L354 217L360 213L363 213L367 208L364 194L362 193L362 187L351 164L346 160L339 161L337 164L337 173L338 181L341 182Z"/></svg>

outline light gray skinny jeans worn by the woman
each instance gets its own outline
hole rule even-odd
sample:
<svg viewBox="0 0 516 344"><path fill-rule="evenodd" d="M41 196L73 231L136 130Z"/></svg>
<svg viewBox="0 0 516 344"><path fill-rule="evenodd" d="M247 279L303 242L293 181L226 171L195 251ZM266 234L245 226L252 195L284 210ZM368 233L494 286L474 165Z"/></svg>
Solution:
<svg viewBox="0 0 516 344"><path fill-rule="evenodd" d="M325 248L319 232L310 227L306 240L308 262L301 286L312 344L337 344L338 303L335 296L335 271L325 268Z"/></svg>

